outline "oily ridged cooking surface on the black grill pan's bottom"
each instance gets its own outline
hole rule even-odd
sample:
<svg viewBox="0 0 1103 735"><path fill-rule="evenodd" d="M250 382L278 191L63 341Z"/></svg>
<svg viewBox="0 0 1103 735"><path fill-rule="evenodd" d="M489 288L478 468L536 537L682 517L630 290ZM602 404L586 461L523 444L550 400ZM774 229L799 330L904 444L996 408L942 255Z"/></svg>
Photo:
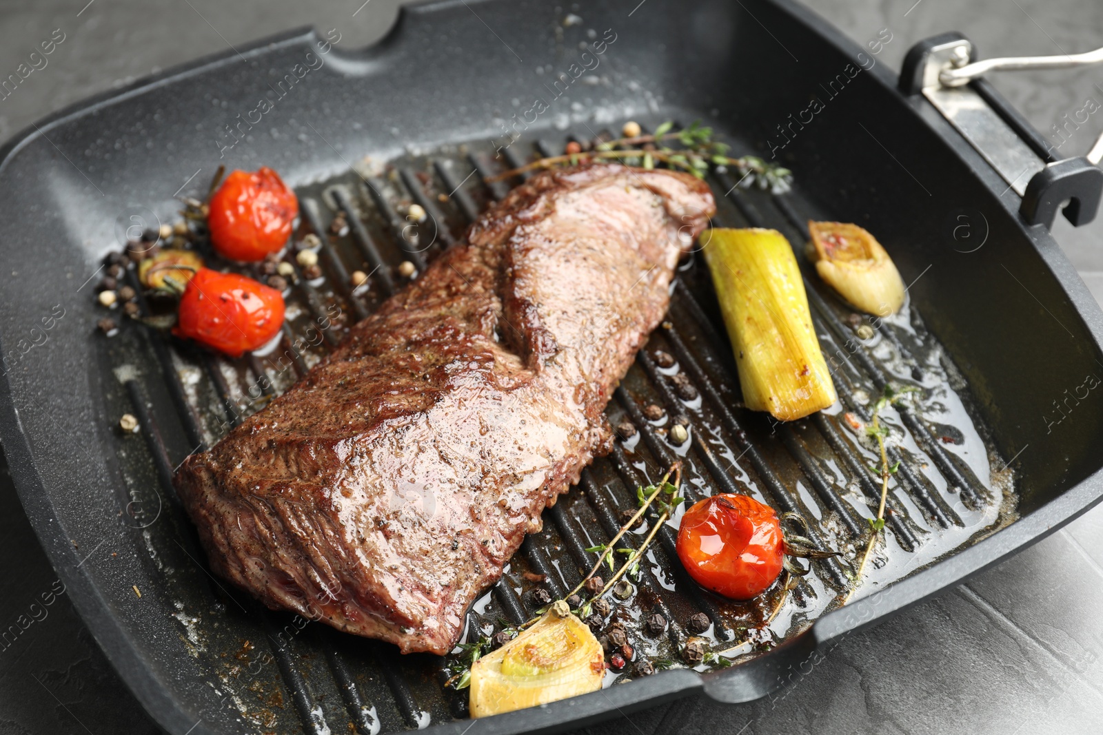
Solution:
<svg viewBox="0 0 1103 735"><path fill-rule="evenodd" d="M604 139L611 134L606 130L599 133ZM407 279L400 274L399 262L409 261L420 271L427 260L454 242L470 223L470 215L503 192L485 179L524 163L531 154L555 154L565 142L563 138L555 142L546 138L520 140L501 161L493 160L493 151L485 144L469 143L463 147L465 155L399 159L376 171L378 175L347 173L300 190L302 226L285 261L295 263L296 249L313 233L322 242L319 262L323 274L309 281L296 266L289 293L293 318L280 345L265 355L231 360L167 342L137 323L125 324L126 334L118 342L105 341L105 359L121 376L160 482L158 496L144 490L144 512L135 512L138 507L128 500L132 520L147 522L148 509L160 502L158 498L164 498L180 516L170 499L171 473L190 448L213 444L301 377L308 365L340 342L345 326L401 288ZM714 224L770 226L785 231L794 242L806 239L804 221L812 208L799 195L770 197L733 188L735 181L722 171L714 172L711 180L720 201ZM398 215L411 203L429 215L424 223ZM205 255L211 258L208 249ZM216 259L215 264L219 264ZM357 269L372 275L367 284L353 290L349 273ZM258 275L255 268L243 270ZM128 275L137 287L133 268ZM889 379L952 392L945 386L952 366L940 359L941 350L917 313L911 313L910 321L904 317L874 329L869 320L853 314L814 277L808 287L824 349L837 356L832 364L843 411L868 421L871 400ZM861 326L872 329L872 336L856 336ZM876 508L880 494L879 482L867 469L876 455L847 429L843 411L782 424L741 409L730 346L724 335L708 273L699 256L690 256L679 268L667 320L639 353L608 410L613 425L628 421L638 429L636 435L618 441L612 455L596 462L583 473L579 486L545 512L545 529L526 539L503 580L469 614L465 640L492 631L495 624L501 627L502 623L518 624L532 617L540 606L533 602L536 587L555 597L565 595L597 559L587 549L608 541L621 525L621 511L634 507L635 488L655 482L678 458L686 466L689 502L716 493L750 494L779 511L801 514L818 544L847 551L842 562L815 563L813 576L782 606L781 620L773 626L778 634L799 631L846 595L855 556L860 555L866 518L871 517L870 507ZM152 387L143 386L149 381L138 374L162 382L173 399L170 404L154 406L147 397ZM649 421L643 413L649 406L661 407L664 417ZM687 423L692 436L682 445L667 439L667 428L679 419ZM893 463L901 460L903 469L889 505L889 548L875 561L878 566L886 564L887 580L899 575L898 570L915 569L952 552L1009 519L1007 514L997 515L999 499L993 501L992 491L964 455L945 448L956 447L944 440L956 441L961 429L938 429L903 410L895 422L898 430L909 432L909 444L914 448L893 448L890 457ZM957 415L954 423L982 440L967 413ZM182 433L192 446L170 446L165 441L170 432ZM949 437L945 432L957 433ZM122 437L120 448L132 451L138 441L136 436ZM985 452L983 462L988 460ZM140 475L138 468L133 472ZM222 679L219 691L233 696L246 722L280 732L301 727L322 733L351 725L374 733L463 716L467 692L440 690L448 674L438 657L401 657L390 646L356 640L302 618L260 609L246 595L208 576L186 519L176 517L174 525L180 536L171 537L170 544L179 547L186 562L203 568L207 579L199 579L200 594L210 595L199 608L183 602L181 621L196 639L196 657ZM630 534L624 548L632 548L640 538ZM879 571L871 569L875 574ZM545 579L527 581L526 573ZM713 625L706 637L715 648L731 651L733 660L752 657L775 642L771 634L754 635L753 630L752 639L745 641L748 628L761 625L779 604L779 590L750 604L735 604L702 591L676 562L670 529L661 532L660 543L633 586L630 599L617 601L615 616L628 621L638 660L681 661L681 650L690 635L686 621L695 613L708 616ZM664 634L652 634L642 625L653 613L670 621ZM229 635L212 634L215 626L227 627ZM228 660L223 658L225 653L229 653ZM269 659L271 664L265 667ZM266 680L256 685L246 677L243 687L240 670L248 672L258 663L270 669L264 672ZM620 678L632 675L630 663Z"/></svg>

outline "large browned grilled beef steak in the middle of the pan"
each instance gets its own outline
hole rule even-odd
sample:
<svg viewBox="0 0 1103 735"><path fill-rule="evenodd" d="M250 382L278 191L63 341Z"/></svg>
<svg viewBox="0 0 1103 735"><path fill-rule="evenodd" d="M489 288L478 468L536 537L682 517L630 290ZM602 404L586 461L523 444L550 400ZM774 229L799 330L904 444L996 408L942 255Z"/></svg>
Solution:
<svg viewBox="0 0 1103 735"><path fill-rule="evenodd" d="M714 210L692 176L621 165L514 190L179 469L213 569L270 607L449 651L540 511L608 451L606 403Z"/></svg>

